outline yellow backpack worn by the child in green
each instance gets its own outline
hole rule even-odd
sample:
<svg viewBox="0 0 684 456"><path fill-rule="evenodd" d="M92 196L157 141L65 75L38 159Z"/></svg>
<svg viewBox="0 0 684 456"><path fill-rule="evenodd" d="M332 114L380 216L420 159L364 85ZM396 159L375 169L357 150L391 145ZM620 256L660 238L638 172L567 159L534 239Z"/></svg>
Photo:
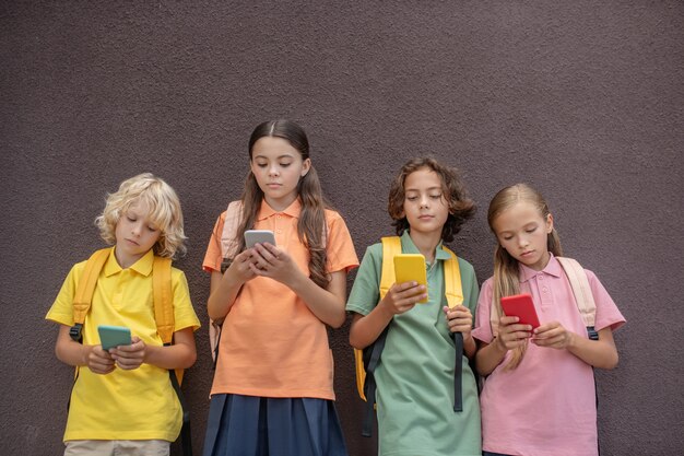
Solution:
<svg viewBox="0 0 684 456"><path fill-rule="evenodd" d="M453 252L443 245L443 250L449 254L450 258L445 261L445 294L449 307L455 307L463 303L463 288L461 284L461 271L459 268L458 257ZM399 236L382 237L382 271L380 276L380 300L385 297L390 287L394 283L394 261L396 255L401 254L401 238ZM362 435L369 437L373 429L373 411L376 406L375 394L375 370L380 362L387 332L391 326L385 327L385 330L378 336L375 342L363 350L354 349L354 361L356 365L356 389L358 396L366 401L366 413L363 421ZM456 364L453 371L453 411L463 410L462 398L462 364L463 356L463 335L452 332L455 342Z"/></svg>

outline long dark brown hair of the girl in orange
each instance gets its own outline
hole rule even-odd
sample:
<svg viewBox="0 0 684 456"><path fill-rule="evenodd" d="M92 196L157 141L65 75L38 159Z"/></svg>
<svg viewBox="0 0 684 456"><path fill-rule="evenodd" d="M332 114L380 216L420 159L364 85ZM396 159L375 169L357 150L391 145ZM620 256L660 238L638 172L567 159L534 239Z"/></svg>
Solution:
<svg viewBox="0 0 684 456"><path fill-rule="evenodd" d="M309 159L309 141L304 129L294 121L281 119L259 124L251 132L249 137L250 161L252 160L255 143L264 137L282 138L299 152L303 161ZM297 192L302 202L297 235L309 252L309 277L317 285L326 288L330 278L326 272L327 252L325 239L327 236L325 230L327 227L325 210L329 208L329 204L323 197L320 180L314 165L309 167L305 176L299 178ZM245 179L241 201L243 217L237 230L237 238L235 239L238 244L236 252L245 249L245 231L253 227L257 214L261 208L261 201L263 201L263 190L259 188L257 178L251 169L247 173L247 178Z"/></svg>

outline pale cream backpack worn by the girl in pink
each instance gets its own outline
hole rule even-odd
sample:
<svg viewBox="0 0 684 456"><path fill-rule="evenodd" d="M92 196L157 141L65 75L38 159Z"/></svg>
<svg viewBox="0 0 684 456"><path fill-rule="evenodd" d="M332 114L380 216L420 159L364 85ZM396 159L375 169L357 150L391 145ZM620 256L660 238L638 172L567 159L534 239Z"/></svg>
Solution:
<svg viewBox="0 0 684 456"><path fill-rule="evenodd" d="M579 309L582 321L585 321L585 326L587 327L587 334L589 335L589 339L599 340L599 334L594 329L597 304L593 300L593 295L591 294L591 287L589 285L589 279L587 279L587 273L585 272L581 265L573 258L556 257L556 259L563 267L565 276L570 282L570 289L573 289L573 294L575 295L577 308ZM499 317L499 307L493 302L492 311L490 312L490 324L492 325L492 334L495 337L498 334Z"/></svg>

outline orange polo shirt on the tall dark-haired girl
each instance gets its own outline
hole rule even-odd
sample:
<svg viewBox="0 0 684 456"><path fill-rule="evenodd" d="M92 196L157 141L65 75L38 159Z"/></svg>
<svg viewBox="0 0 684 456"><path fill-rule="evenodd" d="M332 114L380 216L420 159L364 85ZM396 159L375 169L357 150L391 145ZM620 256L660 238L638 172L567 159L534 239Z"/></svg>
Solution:
<svg viewBox="0 0 684 456"><path fill-rule="evenodd" d="M255 230L271 230L275 244L309 274L309 254L297 236L299 200L282 212L262 202ZM202 267L221 270L225 212L212 232ZM328 272L358 266L352 237L339 213L326 210ZM334 399L333 362L326 325L290 288L257 277L243 285L223 323L211 394Z"/></svg>

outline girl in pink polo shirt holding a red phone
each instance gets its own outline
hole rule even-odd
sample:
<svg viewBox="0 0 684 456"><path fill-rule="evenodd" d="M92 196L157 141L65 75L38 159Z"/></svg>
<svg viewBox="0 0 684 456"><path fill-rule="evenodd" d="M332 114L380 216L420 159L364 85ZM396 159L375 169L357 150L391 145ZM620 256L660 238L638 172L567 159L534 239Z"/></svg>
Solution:
<svg viewBox="0 0 684 456"><path fill-rule="evenodd" d="M597 304L590 340L557 256L561 242L542 196L518 184L500 190L487 213L498 245L494 277L482 285L473 337L477 372L486 376L480 402L484 455L598 455L592 367L613 369L613 330L625 323L593 272L585 270ZM530 293L541 326L502 316L500 297ZM503 315L499 312L498 315Z"/></svg>

